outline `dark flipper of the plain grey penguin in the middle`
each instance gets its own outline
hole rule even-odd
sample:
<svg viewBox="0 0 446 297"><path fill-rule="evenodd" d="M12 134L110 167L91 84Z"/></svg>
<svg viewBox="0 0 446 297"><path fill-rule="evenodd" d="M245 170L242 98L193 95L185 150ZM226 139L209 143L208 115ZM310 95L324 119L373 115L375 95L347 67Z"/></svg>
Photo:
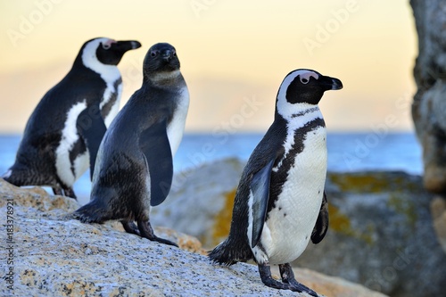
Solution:
<svg viewBox="0 0 446 297"><path fill-rule="evenodd" d="M172 186L173 160L166 120L145 129L139 138L139 147L149 168L150 205L156 206L166 199Z"/></svg>

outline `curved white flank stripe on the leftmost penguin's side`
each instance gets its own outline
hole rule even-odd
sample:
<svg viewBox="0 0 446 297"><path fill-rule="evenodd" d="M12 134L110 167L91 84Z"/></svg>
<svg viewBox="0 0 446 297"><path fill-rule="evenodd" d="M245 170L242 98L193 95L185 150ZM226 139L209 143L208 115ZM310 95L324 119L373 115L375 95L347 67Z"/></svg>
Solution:
<svg viewBox="0 0 446 297"><path fill-rule="evenodd" d="M77 164L71 164L70 162L70 151L79 138L76 122L80 112L84 111L86 108L87 103L84 99L84 101L74 104L70 108L70 111L67 112L67 119L65 120L64 127L62 129L61 143L55 151L55 167L57 176L61 178L62 182L67 186L72 186L76 181L77 176L80 177L80 175L83 174L88 168L88 161L87 166L81 166L79 164L79 161L81 160L78 160ZM85 156L83 160L85 161ZM75 166L76 176L73 175L73 172L70 170L71 165ZM78 168L76 168L76 166L78 166Z"/></svg>

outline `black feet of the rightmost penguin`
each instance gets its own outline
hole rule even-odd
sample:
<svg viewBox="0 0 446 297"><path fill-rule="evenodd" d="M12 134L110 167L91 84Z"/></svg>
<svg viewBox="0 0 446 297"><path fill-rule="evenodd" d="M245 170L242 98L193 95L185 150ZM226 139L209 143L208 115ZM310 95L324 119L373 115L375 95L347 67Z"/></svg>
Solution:
<svg viewBox="0 0 446 297"><path fill-rule="evenodd" d="M291 270L291 267L289 266L289 264L284 264L284 266L286 266L286 265L288 265L288 268L285 267L286 276L284 278L284 274L282 273L282 268L281 268L280 274L282 276L283 282L279 282L271 276L271 269L269 267L268 262L259 264L259 272L260 272L260 278L261 278L262 283L267 285L268 287L279 289L279 290L291 290L293 292L309 293L311 296L315 296L315 297L319 296L318 293L314 292L310 288L298 283L294 279L293 270ZM279 268L280 268L280 266L279 266ZM288 270L291 270L291 274ZM293 277L289 277L289 276L293 276Z"/></svg>

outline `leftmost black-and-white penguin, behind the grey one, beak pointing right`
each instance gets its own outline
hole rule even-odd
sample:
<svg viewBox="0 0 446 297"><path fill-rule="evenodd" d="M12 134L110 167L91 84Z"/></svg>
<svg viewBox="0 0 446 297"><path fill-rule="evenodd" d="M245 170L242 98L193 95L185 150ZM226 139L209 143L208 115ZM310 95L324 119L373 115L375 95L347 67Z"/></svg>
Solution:
<svg viewBox="0 0 446 297"><path fill-rule="evenodd" d="M15 186L51 186L76 199L74 182L90 168L105 130L120 107L117 65L136 40L98 37L78 52L71 70L37 104L26 124L15 162L4 180Z"/></svg>

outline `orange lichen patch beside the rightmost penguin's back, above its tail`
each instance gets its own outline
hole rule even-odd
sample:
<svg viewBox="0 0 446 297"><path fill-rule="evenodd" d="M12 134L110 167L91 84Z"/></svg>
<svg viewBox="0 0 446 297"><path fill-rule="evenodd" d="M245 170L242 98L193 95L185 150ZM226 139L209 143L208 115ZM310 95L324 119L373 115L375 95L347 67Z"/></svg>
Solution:
<svg viewBox="0 0 446 297"><path fill-rule="evenodd" d="M215 217L214 226L212 228L213 245L219 244L222 238L226 238L227 235L229 235L232 209L234 208L235 191L236 188L225 194L225 205Z"/></svg>

